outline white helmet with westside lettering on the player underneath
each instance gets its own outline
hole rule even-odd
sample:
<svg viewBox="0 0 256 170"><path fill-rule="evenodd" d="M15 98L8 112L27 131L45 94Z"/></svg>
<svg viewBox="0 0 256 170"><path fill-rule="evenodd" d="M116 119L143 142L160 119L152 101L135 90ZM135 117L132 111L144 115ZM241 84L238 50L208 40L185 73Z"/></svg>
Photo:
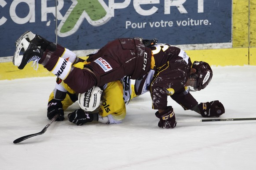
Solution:
<svg viewBox="0 0 256 170"><path fill-rule="evenodd" d="M92 112L99 107L102 90L93 86L87 92L78 94L78 103L81 109Z"/></svg>

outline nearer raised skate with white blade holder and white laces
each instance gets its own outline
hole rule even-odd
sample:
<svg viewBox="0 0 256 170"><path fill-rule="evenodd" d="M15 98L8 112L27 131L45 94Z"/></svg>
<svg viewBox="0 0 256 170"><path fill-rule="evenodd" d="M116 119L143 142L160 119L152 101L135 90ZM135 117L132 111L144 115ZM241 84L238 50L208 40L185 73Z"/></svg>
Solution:
<svg viewBox="0 0 256 170"><path fill-rule="evenodd" d="M25 51L19 55L21 51ZM34 65L38 63L44 54L44 50L40 49L36 44L29 43L26 38L18 40L12 63L22 70L30 61L34 61ZM33 66L34 66L33 65ZM36 68L37 69L37 68Z"/></svg>

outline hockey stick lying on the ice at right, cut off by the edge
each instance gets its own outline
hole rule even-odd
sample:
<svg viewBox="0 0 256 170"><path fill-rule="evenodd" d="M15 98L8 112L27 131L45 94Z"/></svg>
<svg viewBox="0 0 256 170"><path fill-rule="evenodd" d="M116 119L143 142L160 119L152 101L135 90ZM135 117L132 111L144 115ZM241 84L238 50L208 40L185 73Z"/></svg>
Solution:
<svg viewBox="0 0 256 170"><path fill-rule="evenodd" d="M256 117L252 118L230 118L230 119L188 119L188 120L177 120L177 123L186 123L186 122L217 122L217 121L241 121L241 120L256 120Z"/></svg>

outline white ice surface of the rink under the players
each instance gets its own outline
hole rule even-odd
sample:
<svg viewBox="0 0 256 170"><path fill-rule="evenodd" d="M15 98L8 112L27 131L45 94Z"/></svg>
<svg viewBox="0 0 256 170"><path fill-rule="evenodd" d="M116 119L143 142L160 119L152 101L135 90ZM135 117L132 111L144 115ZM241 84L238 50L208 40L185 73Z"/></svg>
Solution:
<svg viewBox="0 0 256 170"><path fill-rule="evenodd" d="M192 95L198 102L219 100L226 113L219 118L256 117L256 67L213 67L208 87ZM255 170L256 120L178 123L157 127L150 94L127 106L122 124L77 126L53 122L41 131L55 77L0 81L1 170ZM204 119L169 99L176 120Z"/></svg>

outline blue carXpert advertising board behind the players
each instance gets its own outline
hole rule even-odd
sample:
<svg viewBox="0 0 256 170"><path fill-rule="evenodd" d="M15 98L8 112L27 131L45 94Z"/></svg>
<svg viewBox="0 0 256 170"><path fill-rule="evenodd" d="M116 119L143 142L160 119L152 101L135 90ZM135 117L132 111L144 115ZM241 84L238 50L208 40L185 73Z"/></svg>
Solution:
<svg viewBox="0 0 256 170"><path fill-rule="evenodd" d="M119 37L230 48L232 0L0 0L0 29L2 39L15 42L30 30L71 50L100 49ZM0 50L7 57L15 47Z"/></svg>

